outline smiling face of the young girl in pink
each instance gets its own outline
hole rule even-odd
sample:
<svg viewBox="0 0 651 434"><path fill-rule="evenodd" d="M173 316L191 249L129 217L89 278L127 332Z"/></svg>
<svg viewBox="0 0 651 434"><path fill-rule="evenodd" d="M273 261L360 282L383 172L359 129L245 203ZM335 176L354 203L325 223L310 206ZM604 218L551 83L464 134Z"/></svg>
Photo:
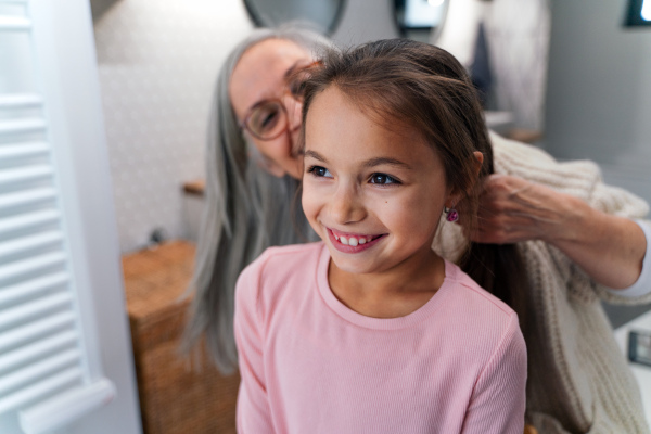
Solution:
<svg viewBox="0 0 651 434"><path fill-rule="evenodd" d="M452 197L424 140L371 120L334 86L315 98L305 127L303 209L334 266L376 273L431 255Z"/></svg>

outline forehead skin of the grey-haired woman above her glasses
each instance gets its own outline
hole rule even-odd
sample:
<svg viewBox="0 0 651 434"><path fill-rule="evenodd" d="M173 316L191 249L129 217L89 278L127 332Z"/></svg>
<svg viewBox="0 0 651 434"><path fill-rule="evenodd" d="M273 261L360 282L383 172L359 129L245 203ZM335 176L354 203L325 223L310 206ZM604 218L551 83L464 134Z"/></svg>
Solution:
<svg viewBox="0 0 651 434"><path fill-rule="evenodd" d="M311 60L301 46L286 39L266 39L244 52L235 64L229 98L240 120L257 102L281 97L284 74L298 60Z"/></svg>

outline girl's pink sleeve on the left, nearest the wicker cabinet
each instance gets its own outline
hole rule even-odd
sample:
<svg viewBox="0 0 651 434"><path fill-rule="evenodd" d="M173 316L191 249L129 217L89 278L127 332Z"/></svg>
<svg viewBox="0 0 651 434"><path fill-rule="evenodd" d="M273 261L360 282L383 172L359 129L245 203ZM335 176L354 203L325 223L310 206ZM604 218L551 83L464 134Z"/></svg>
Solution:
<svg viewBox="0 0 651 434"><path fill-rule="evenodd" d="M263 367L258 312L260 260L247 267L235 285L234 332L240 363L237 424L239 434L273 433Z"/></svg>

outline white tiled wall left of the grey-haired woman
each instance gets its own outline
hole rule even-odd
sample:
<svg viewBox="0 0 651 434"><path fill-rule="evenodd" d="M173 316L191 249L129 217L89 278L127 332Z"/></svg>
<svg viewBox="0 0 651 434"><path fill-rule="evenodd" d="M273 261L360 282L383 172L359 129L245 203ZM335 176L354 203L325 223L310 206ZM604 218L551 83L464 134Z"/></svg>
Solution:
<svg viewBox="0 0 651 434"><path fill-rule="evenodd" d="M184 181L203 177L217 71L252 28L241 1L122 0L94 20L119 245L184 235Z"/></svg>

